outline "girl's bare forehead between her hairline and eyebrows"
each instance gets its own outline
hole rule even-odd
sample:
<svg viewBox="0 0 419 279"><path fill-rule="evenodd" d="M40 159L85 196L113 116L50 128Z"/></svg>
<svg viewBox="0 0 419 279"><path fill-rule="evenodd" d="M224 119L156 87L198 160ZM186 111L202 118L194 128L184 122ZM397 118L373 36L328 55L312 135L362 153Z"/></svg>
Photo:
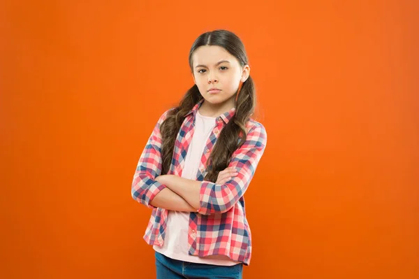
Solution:
<svg viewBox="0 0 419 279"><path fill-rule="evenodd" d="M218 45L203 45L197 48L192 55L193 66L212 66L221 60L228 60L230 63L238 64L237 59L228 53L227 50Z"/></svg>

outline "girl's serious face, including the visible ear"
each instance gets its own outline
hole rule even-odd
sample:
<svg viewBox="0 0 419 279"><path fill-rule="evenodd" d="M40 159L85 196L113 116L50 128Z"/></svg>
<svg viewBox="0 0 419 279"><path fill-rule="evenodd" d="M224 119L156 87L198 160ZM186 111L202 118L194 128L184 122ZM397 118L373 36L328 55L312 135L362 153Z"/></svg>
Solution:
<svg viewBox="0 0 419 279"><path fill-rule="evenodd" d="M240 82L249 77L249 65L238 60L217 45L203 45L192 55L193 80L205 101L224 103L233 100ZM210 92L211 88L219 91Z"/></svg>

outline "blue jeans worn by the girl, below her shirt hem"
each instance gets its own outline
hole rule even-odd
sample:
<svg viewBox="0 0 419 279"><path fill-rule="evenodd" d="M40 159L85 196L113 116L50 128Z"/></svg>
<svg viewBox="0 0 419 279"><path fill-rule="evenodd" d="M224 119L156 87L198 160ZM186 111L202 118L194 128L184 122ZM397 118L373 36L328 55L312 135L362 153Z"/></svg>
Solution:
<svg viewBox="0 0 419 279"><path fill-rule="evenodd" d="M216 266L170 259L155 252L157 279L242 279L243 264Z"/></svg>

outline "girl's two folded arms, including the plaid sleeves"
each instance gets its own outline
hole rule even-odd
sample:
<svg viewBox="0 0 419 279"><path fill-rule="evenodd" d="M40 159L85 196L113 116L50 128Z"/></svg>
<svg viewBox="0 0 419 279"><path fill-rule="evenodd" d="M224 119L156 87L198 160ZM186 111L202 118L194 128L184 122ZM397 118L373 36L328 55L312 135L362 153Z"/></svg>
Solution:
<svg viewBox="0 0 419 279"><path fill-rule="evenodd" d="M149 208L166 208L203 215L224 213L246 192L256 166L265 151L267 136L261 124L252 127L245 143L235 150L228 167L238 175L226 183L196 181L175 175L161 175L161 134L163 115L142 152L131 187L133 199Z"/></svg>

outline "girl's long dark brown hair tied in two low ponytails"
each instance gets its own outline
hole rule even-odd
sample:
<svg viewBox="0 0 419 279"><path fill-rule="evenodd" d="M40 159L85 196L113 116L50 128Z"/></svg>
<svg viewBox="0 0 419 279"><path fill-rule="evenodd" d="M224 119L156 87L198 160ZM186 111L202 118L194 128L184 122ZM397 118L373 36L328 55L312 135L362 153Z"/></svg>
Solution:
<svg viewBox="0 0 419 279"><path fill-rule="evenodd" d="M202 45L218 45L236 57L241 66L249 64L246 50L239 37L230 31L214 30L201 34L193 43L189 52L189 66L191 67L192 72L193 52ZM161 148L161 156L163 158L162 175L167 174L170 169L176 136L184 122L185 115L202 99L203 96L200 94L198 87L193 85L193 87L191 87L183 96L179 106L170 110L166 120L161 124L160 131L163 138ZM255 107L256 91L253 80L249 76L243 83L235 103L235 115L228 124L223 127L219 138L217 138L216 144L212 149L211 155L207 161L207 169L209 169L209 171L204 180L215 183L219 172L228 167L233 152L235 152L237 148L240 148L244 141L246 141L246 123L249 121L251 115L253 115Z"/></svg>

